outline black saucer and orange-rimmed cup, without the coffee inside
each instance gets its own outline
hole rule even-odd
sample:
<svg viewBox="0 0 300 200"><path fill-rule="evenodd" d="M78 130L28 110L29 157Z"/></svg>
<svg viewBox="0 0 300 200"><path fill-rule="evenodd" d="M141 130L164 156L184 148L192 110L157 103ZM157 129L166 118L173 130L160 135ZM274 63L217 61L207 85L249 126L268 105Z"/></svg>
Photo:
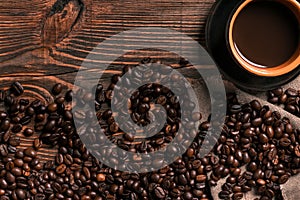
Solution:
<svg viewBox="0 0 300 200"><path fill-rule="evenodd" d="M295 50L284 62L271 67L249 61L247 56L243 56L239 51L235 43L234 27L237 20L246 11L252 12L253 9L251 10L249 7L258 3L280 4L293 15L292 17L296 22L294 23L294 28L297 31ZM299 75L299 27L300 3L296 0L220 0L213 7L207 22L206 44L210 54L227 79L242 89L263 91L285 84ZM242 39L247 41L247 38ZM272 51L271 48L270 51Z"/></svg>

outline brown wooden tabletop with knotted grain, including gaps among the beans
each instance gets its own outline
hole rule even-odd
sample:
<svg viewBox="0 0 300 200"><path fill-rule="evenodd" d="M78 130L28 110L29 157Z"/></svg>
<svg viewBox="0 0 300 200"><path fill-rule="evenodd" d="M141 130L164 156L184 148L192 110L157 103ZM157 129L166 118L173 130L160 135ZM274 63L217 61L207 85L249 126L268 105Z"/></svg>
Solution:
<svg viewBox="0 0 300 200"><path fill-rule="evenodd" d="M0 4L0 87L7 88L18 80L25 86L25 97L51 102L53 98L48 92L51 87L61 82L72 88L76 72L93 48L132 28L170 28L203 44L205 22L213 3L214 0L3 1ZM157 34L145 33L138 39L163 38ZM114 54L110 46L105 51ZM101 62L103 56L96 55L94 62ZM181 60L178 55L160 50L133 51L113 63L107 78L111 73L118 73L121 66L136 65L145 57L163 60L175 68ZM19 136L20 148L25 148L32 145L38 133L30 138ZM47 147L39 151L45 160L55 153L55 149Z"/></svg>

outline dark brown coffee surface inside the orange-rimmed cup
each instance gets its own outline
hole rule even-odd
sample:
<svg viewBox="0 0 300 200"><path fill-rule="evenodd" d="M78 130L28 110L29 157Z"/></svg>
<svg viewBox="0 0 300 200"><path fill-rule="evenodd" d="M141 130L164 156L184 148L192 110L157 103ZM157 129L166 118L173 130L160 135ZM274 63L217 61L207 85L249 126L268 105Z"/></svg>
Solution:
<svg viewBox="0 0 300 200"><path fill-rule="evenodd" d="M232 34L236 50L245 61L258 67L274 67L295 53L299 23L281 3L254 1L238 14Z"/></svg>

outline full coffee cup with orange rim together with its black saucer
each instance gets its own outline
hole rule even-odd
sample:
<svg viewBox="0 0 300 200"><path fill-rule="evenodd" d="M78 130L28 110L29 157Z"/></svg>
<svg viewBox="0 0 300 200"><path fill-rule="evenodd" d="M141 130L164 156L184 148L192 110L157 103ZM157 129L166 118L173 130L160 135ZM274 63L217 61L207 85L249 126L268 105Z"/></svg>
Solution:
<svg viewBox="0 0 300 200"><path fill-rule="evenodd" d="M209 52L238 87L273 89L299 75L297 0L220 0L206 28Z"/></svg>

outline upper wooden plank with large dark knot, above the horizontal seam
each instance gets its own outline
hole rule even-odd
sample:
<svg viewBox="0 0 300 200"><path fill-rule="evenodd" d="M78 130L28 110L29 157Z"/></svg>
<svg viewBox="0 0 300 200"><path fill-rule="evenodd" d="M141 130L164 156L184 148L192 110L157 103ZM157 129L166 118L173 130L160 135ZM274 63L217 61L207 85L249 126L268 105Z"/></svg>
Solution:
<svg viewBox="0 0 300 200"><path fill-rule="evenodd" d="M1 3L1 72L11 66L16 72L72 73L98 43L134 27L171 28L203 43L213 4L212 0L57 2ZM134 64L136 60L117 64Z"/></svg>

